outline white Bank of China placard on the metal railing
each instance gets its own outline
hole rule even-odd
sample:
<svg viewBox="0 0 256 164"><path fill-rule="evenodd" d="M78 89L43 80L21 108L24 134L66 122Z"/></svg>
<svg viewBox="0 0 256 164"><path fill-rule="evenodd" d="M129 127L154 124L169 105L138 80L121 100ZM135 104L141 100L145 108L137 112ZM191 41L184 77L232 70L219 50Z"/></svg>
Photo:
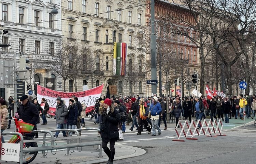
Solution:
<svg viewBox="0 0 256 164"><path fill-rule="evenodd" d="M19 162L19 146L19 144L2 143L0 160Z"/></svg>

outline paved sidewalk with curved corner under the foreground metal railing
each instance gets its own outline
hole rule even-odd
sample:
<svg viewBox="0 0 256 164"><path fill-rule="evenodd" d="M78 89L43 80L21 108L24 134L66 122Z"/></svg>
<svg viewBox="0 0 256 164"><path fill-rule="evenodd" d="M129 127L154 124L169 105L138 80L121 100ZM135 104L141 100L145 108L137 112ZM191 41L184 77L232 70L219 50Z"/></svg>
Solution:
<svg viewBox="0 0 256 164"><path fill-rule="evenodd" d="M109 146L109 145L108 145ZM86 148L86 147L83 147ZM78 148L79 150L81 148ZM125 158L137 157L146 153L144 149L137 147L127 146L127 145L115 145L115 160L121 160ZM70 149L72 152L73 149ZM71 155L65 155L66 150L57 151L55 155L48 151L46 158L42 158L42 152L37 154L37 157L30 164L92 164L92 163L104 163L109 160L108 156L102 149L102 158L99 158L99 151L75 151L70 153ZM53 153L55 151L53 150ZM1 164L6 163L5 161L0 161ZM12 163L12 162L8 162ZM8 164L7 163L7 164ZM13 162L14 163L14 162Z"/></svg>

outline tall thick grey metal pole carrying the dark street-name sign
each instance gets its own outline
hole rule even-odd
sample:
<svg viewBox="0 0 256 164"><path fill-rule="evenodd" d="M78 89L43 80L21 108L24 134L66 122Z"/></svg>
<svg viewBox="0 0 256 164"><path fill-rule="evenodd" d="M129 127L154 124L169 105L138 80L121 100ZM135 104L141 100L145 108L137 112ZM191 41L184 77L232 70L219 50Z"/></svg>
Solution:
<svg viewBox="0 0 256 164"><path fill-rule="evenodd" d="M151 80L156 79L156 35L155 35L155 0L151 0ZM161 86L160 86L161 87ZM151 85L151 92L153 94L157 93L156 84Z"/></svg>

